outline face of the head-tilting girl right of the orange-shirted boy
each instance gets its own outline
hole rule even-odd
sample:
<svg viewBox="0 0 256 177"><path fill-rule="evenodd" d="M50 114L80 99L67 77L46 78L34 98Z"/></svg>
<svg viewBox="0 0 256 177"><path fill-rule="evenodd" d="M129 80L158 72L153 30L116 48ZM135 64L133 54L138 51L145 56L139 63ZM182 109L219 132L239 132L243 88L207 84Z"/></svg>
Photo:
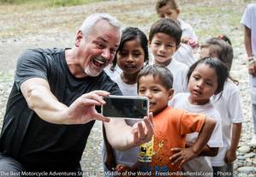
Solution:
<svg viewBox="0 0 256 177"><path fill-rule="evenodd" d="M217 90L216 70L205 63L199 63L189 78L188 90L190 103L198 105L208 103Z"/></svg>

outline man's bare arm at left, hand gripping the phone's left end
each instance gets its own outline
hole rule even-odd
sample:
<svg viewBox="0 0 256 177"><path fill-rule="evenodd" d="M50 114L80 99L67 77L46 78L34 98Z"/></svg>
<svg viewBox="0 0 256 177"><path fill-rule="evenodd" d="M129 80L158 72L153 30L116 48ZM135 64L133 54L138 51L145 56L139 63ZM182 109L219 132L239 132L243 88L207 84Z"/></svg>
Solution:
<svg viewBox="0 0 256 177"><path fill-rule="evenodd" d="M82 124L92 120L109 121L97 113L95 105L104 103L107 91L92 91L77 98L69 107L60 103L51 93L48 82L33 78L21 84L21 92L30 109L41 119L56 124Z"/></svg>

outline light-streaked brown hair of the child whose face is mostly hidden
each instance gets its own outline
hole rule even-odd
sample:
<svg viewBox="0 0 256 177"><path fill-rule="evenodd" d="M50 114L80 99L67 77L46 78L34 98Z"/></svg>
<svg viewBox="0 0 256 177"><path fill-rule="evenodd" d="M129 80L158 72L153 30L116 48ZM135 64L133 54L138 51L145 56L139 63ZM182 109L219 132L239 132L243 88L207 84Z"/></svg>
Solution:
<svg viewBox="0 0 256 177"><path fill-rule="evenodd" d="M208 40L206 40L205 44L201 45L201 48L209 49L209 55L215 56L220 61L222 61L224 65L228 68L228 72L230 72L234 52L229 37L225 35L220 35L217 38L209 38ZM230 75L229 79L232 80L236 85L239 84L238 80L233 79Z"/></svg>

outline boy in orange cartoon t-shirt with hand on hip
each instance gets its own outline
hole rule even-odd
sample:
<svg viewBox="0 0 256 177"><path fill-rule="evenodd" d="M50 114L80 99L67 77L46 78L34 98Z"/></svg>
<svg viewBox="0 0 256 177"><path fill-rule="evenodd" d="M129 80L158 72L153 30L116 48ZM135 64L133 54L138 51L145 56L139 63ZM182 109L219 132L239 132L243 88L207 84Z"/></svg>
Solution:
<svg viewBox="0 0 256 177"><path fill-rule="evenodd" d="M138 75L138 93L149 99L154 126L152 141L140 146L139 176L180 176L182 165L199 155L216 125L205 115L168 106L174 92L172 83L169 69L157 65L142 69ZM186 135L193 132L199 132L199 137L185 148ZM176 148L182 150L176 153Z"/></svg>

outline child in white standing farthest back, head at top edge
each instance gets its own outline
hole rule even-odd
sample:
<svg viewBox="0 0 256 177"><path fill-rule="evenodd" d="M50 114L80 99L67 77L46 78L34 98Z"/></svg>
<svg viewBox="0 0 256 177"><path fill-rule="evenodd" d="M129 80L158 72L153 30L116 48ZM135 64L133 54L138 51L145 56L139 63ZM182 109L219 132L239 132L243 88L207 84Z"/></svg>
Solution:
<svg viewBox="0 0 256 177"><path fill-rule="evenodd" d="M198 46L193 27L178 18L181 10L175 0L158 0L156 10L160 18L172 19L182 28L182 44L173 57L190 67L196 61L193 56L193 49Z"/></svg>

